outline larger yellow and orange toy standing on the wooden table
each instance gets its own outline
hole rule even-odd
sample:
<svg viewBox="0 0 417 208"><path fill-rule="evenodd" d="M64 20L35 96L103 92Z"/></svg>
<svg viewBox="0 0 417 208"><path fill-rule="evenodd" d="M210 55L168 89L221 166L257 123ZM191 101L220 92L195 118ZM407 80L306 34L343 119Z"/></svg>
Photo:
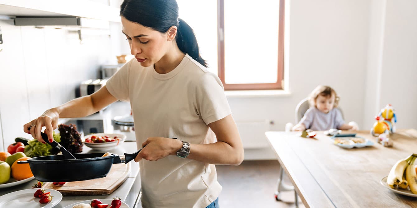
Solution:
<svg viewBox="0 0 417 208"><path fill-rule="evenodd" d="M397 116L391 104L381 109L378 116L375 117L377 122L374 123L374 127L371 129L372 136L379 136L379 134L393 134L395 133L394 124L397 123ZM392 121L394 119L394 121Z"/></svg>

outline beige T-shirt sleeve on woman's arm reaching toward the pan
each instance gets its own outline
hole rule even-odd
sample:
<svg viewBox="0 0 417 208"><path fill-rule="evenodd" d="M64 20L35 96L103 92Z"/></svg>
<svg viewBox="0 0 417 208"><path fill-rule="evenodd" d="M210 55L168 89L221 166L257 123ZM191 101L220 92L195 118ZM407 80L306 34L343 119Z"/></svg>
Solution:
<svg viewBox="0 0 417 208"><path fill-rule="evenodd" d="M132 59L133 60L133 59ZM129 102L129 72L132 60L124 64L113 76L106 82L106 87L111 95L116 99Z"/></svg>

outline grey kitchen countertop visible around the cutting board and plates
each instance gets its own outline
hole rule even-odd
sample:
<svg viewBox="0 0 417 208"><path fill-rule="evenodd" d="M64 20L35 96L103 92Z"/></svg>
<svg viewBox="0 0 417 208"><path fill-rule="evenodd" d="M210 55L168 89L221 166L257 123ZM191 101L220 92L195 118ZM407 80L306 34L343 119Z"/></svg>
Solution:
<svg viewBox="0 0 417 208"><path fill-rule="evenodd" d="M133 141L125 141L121 146L116 147L116 149L110 150L109 152L123 155L124 153L134 153L137 151L136 142ZM90 149L87 146L83 146L83 153L91 153L91 152L102 152L102 151L95 151ZM113 193L109 195L98 195L98 196L63 196L62 201L55 206L54 208L64 208L72 203L76 203L79 201L85 200L93 200L98 198L107 198L113 199L116 196L120 197L122 201L127 203L130 208L141 207L140 204L140 191L141 191L141 178L139 176L139 163L135 163L131 161L131 173L129 174L126 181L116 189ZM23 189L32 188L33 184L37 183L36 180L29 181L24 184L20 184L18 186L13 186L9 188L0 189L0 196L3 196L7 193L11 193L13 191L19 191Z"/></svg>

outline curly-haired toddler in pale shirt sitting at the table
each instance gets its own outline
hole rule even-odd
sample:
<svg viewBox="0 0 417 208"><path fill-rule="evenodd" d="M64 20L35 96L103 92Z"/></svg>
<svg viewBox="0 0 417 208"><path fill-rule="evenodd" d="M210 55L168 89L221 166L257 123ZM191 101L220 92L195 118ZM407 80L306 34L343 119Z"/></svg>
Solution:
<svg viewBox="0 0 417 208"><path fill-rule="evenodd" d="M339 104L339 97L331 87L317 86L309 95L309 104L310 108L300 122L292 128L292 131L357 130L357 126L344 122L342 112L336 108Z"/></svg>

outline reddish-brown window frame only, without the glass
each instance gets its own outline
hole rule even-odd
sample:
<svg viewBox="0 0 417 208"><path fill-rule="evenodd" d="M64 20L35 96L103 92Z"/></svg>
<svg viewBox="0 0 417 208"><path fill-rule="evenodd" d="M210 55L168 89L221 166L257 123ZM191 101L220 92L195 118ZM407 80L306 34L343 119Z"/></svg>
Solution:
<svg viewBox="0 0 417 208"><path fill-rule="evenodd" d="M218 76L225 90L283 89L284 77L284 17L285 0L279 0L278 20L278 73L275 83L226 84L224 77L224 0L217 0L217 55Z"/></svg>

